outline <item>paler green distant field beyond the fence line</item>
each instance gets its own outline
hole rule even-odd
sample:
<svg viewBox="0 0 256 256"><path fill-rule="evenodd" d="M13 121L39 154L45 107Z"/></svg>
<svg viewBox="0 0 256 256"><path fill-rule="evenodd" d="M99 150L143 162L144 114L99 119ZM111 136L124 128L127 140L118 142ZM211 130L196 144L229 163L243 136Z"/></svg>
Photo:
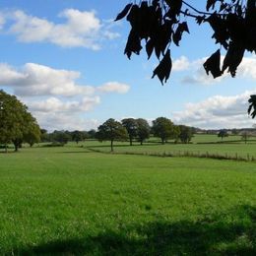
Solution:
<svg viewBox="0 0 256 256"><path fill-rule="evenodd" d="M90 149L109 152L109 142L87 142L85 147ZM256 142L251 138L248 143L241 141L239 136L229 136L224 138L224 142L217 135L196 135L191 144L174 144L173 142L161 145L157 138L141 146L134 143L131 147L129 143L114 142L114 151L116 153L134 153L134 154L170 154L182 156L187 153L195 155L218 155L230 158L254 159L256 160Z"/></svg>

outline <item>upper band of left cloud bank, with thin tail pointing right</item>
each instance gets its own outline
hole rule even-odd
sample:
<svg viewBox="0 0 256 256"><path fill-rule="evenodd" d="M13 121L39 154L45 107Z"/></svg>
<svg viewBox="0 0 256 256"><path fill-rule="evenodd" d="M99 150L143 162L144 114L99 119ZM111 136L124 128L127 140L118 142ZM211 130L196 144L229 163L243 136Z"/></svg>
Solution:
<svg viewBox="0 0 256 256"><path fill-rule="evenodd" d="M11 87L17 96L93 96L100 93L126 94L129 86L107 82L102 86L78 85L77 71L53 69L27 63L20 70L0 63L0 86Z"/></svg>

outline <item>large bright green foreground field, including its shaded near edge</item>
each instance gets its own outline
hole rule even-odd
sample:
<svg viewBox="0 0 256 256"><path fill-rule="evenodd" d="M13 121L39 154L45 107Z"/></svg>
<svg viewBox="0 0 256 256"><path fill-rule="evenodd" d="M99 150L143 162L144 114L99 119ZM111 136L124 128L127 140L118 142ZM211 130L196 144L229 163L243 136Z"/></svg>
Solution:
<svg viewBox="0 0 256 256"><path fill-rule="evenodd" d="M0 191L0 255L256 253L255 162L26 148Z"/></svg>

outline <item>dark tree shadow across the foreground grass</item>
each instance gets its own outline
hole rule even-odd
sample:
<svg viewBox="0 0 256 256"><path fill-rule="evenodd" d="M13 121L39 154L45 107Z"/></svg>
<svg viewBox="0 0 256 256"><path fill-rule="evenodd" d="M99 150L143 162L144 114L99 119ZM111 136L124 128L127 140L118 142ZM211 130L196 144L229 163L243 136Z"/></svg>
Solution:
<svg viewBox="0 0 256 256"><path fill-rule="evenodd" d="M224 221L227 220L228 221ZM232 220L232 221L231 221ZM18 255L256 255L256 208L197 222L156 222L107 230L96 236L55 240Z"/></svg>

